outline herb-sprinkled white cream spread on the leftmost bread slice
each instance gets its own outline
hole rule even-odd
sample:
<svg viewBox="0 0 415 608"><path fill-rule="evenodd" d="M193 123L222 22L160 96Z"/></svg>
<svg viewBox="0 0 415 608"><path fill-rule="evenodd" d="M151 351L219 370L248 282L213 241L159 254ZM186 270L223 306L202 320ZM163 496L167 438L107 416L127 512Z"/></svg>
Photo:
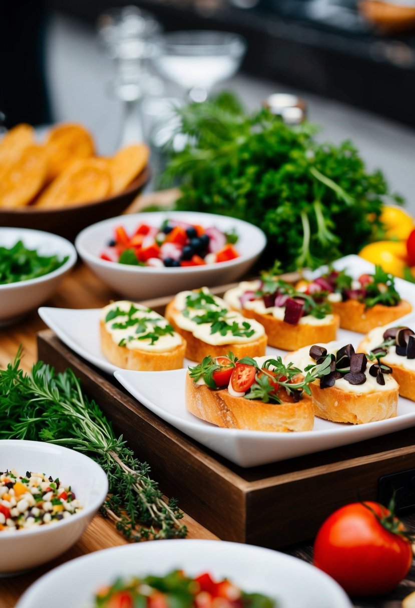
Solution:
<svg viewBox="0 0 415 608"><path fill-rule="evenodd" d="M113 342L120 347L162 353L174 350L183 342L164 317L128 300L105 306L101 319Z"/></svg>

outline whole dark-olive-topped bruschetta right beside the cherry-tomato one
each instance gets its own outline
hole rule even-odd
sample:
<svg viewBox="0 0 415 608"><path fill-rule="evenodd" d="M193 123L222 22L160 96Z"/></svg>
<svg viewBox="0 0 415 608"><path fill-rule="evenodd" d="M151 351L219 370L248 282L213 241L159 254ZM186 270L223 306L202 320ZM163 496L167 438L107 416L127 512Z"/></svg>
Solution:
<svg viewBox="0 0 415 608"><path fill-rule="evenodd" d="M289 359L307 371L331 358L330 373L310 384L315 415L333 422L363 424L396 416L398 384L391 370L378 371L364 353L347 344L315 344L290 353Z"/></svg>

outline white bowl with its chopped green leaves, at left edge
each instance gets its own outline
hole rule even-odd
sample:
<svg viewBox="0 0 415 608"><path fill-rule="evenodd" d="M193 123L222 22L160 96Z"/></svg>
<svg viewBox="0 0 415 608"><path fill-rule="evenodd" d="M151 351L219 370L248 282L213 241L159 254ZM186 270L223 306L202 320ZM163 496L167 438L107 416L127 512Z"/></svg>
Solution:
<svg viewBox="0 0 415 608"><path fill-rule="evenodd" d="M18 321L56 291L77 260L65 238L0 228L0 326Z"/></svg>

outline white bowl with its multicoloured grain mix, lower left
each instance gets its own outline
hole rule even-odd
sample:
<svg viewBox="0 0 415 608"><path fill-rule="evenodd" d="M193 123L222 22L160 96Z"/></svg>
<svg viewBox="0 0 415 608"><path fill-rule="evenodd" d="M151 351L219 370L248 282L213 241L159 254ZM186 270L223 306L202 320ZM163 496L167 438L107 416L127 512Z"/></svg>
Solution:
<svg viewBox="0 0 415 608"><path fill-rule="evenodd" d="M41 441L0 441L0 575L35 568L77 542L108 479L96 462Z"/></svg>

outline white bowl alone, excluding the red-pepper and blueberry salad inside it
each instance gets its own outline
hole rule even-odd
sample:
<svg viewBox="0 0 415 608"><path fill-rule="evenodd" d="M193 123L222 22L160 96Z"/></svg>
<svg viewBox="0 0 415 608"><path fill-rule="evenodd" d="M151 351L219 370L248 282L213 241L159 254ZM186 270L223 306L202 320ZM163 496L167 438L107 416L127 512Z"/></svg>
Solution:
<svg viewBox="0 0 415 608"><path fill-rule="evenodd" d="M160 226L165 219L178 219L203 227L215 226L225 232L235 229L239 235L235 247L240 256L235 260L187 268L128 266L100 259L106 243L113 238L116 226L124 226L127 232L133 232L140 223ZM89 268L114 291L130 299L145 300L175 294L183 289L231 283L248 272L266 242L262 230L240 219L211 213L175 211L134 213L106 219L82 230L75 240L75 247Z"/></svg>

